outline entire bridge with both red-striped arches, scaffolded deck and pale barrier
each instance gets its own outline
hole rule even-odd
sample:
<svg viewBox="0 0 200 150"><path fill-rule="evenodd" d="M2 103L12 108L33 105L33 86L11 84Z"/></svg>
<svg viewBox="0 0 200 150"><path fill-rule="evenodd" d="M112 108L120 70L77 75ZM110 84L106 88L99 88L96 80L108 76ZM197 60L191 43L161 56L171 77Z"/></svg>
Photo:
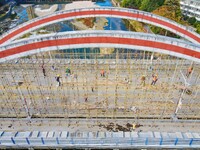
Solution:
<svg viewBox="0 0 200 150"><path fill-rule="evenodd" d="M16 40L51 23L92 16L136 19L193 43L112 30ZM0 123L5 130L0 148L200 146L199 35L187 27L136 10L91 8L36 18L5 33L0 42ZM152 85L155 73L159 80Z"/></svg>

